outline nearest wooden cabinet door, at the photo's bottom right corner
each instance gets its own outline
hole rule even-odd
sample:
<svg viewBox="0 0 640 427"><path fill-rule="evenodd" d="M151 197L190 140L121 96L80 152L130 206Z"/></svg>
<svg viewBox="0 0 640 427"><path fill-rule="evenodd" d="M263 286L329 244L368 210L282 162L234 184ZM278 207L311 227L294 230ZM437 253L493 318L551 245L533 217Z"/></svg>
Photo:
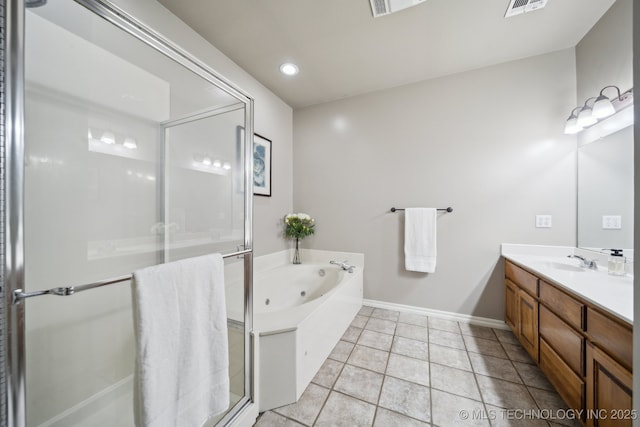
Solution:
<svg viewBox="0 0 640 427"><path fill-rule="evenodd" d="M587 426L631 426L633 375L599 348L587 346Z"/></svg>

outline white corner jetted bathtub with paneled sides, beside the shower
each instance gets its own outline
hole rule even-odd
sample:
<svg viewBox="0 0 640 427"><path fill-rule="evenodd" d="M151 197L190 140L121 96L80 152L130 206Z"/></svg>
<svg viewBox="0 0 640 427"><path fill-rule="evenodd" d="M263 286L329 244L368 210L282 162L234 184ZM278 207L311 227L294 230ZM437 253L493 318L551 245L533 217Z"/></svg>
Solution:
<svg viewBox="0 0 640 427"><path fill-rule="evenodd" d="M293 403L362 307L364 254L303 250L254 262L254 332L259 339L260 411ZM352 273L329 264L348 260Z"/></svg>

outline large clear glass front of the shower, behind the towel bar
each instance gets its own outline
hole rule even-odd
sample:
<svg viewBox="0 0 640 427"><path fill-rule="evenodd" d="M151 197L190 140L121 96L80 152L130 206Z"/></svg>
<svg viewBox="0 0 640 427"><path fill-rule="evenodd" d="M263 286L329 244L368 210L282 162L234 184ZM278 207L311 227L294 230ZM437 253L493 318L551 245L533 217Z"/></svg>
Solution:
<svg viewBox="0 0 640 427"><path fill-rule="evenodd" d="M27 291L243 243L238 99L70 0L26 12L25 95ZM233 405L244 270L225 265ZM129 283L25 304L27 424L133 425Z"/></svg>

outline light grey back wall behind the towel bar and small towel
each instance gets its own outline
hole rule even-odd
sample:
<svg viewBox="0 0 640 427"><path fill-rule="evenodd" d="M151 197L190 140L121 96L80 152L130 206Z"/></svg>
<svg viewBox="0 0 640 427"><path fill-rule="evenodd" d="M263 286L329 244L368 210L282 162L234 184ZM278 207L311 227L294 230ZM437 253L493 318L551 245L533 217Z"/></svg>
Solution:
<svg viewBox="0 0 640 427"><path fill-rule="evenodd" d="M296 110L294 207L317 223L303 245L364 252L365 298L502 319L500 243L575 244L575 88L568 49ZM405 271L392 206L454 208L436 273Z"/></svg>

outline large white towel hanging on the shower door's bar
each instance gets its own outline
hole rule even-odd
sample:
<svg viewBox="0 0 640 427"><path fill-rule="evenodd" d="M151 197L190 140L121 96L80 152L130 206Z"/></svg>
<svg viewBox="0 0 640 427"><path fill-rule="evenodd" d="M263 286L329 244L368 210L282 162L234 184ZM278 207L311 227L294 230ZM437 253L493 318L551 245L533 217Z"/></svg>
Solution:
<svg viewBox="0 0 640 427"><path fill-rule="evenodd" d="M224 263L220 254L133 274L138 427L200 427L229 406Z"/></svg>

